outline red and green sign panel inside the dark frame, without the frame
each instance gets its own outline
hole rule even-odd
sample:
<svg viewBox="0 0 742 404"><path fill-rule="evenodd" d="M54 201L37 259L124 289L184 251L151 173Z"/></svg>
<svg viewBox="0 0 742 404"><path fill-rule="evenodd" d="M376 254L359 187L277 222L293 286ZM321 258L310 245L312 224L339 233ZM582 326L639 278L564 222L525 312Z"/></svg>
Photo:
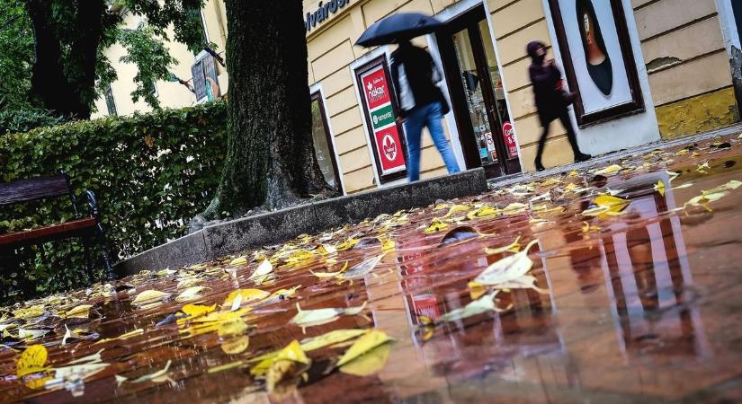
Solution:
<svg viewBox="0 0 742 404"><path fill-rule="evenodd" d="M361 75L361 85L366 100L366 113L371 119L371 138L376 146L381 175L404 171L407 168L405 153L384 66L377 66Z"/></svg>

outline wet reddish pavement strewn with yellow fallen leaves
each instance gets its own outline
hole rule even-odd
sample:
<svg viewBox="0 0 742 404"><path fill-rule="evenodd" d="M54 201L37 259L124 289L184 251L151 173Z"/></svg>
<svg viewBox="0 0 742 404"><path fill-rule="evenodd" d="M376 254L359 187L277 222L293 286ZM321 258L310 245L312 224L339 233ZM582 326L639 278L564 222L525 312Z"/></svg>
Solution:
<svg viewBox="0 0 742 404"><path fill-rule="evenodd" d="M740 159L657 150L7 307L0 402L738 402Z"/></svg>

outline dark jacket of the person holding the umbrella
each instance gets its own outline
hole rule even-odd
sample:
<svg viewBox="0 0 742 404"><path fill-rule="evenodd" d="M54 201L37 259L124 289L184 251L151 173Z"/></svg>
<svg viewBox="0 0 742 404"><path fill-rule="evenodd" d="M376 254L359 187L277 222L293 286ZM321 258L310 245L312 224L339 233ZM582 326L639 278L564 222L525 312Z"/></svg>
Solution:
<svg viewBox="0 0 742 404"><path fill-rule="evenodd" d="M404 110L401 105L399 69L402 66L405 66L407 83L409 83L409 87L415 98L415 107L409 110ZM435 68L437 67L434 65L433 57L423 48L407 45L400 46L392 52L389 70L391 71L392 81L394 82L400 114L403 118L407 117L410 112L416 110L418 107L423 107L435 101L442 103L443 114L448 113L448 102L443 98L441 89L435 85L433 73Z"/></svg>

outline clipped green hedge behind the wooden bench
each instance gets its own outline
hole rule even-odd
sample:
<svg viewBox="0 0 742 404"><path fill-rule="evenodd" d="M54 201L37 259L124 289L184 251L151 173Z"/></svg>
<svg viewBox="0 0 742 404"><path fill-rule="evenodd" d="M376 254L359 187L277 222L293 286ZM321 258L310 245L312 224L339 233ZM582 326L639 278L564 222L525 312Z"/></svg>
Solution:
<svg viewBox="0 0 742 404"><path fill-rule="evenodd" d="M90 189L98 198L115 262L185 233L188 220L209 204L219 184L226 128L226 106L217 101L0 136L0 180L67 170L78 195ZM67 198L4 206L0 233L72 216ZM79 285L87 280L81 249L79 242L27 249L21 271L0 262L0 278L5 287L17 289L26 277L36 292Z"/></svg>

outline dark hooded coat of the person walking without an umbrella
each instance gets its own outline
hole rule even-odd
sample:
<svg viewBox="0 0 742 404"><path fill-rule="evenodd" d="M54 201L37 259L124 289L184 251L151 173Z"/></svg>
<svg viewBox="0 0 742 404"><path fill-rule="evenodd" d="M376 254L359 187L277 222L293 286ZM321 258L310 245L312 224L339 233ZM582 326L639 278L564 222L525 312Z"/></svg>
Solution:
<svg viewBox="0 0 742 404"><path fill-rule="evenodd" d="M539 112L541 125L546 126L567 112L567 103L564 101L563 90L558 88L561 72L556 66L544 67L543 57L536 56L536 50L541 46L543 46L541 42L528 44L528 55L532 58L528 74L531 76L536 110Z"/></svg>

